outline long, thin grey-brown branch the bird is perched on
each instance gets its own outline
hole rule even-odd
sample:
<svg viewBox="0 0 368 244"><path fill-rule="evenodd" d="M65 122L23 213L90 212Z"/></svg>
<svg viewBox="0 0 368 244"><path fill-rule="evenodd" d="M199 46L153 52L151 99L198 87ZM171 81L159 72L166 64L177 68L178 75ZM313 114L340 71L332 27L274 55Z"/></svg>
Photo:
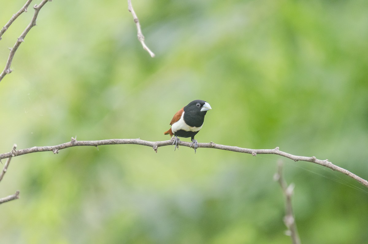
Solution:
<svg viewBox="0 0 368 244"><path fill-rule="evenodd" d="M0 159L8 158L8 157L14 157L14 156L20 156L23 154L28 153L35 153L40 151L52 151L54 154L59 153L61 149L65 149L68 147L75 147L75 146L101 146L101 145L111 145L111 144L136 144L136 145L142 145L142 146L149 146L152 147L153 150L157 152L158 147L162 146L169 146L172 145L173 139L167 140L167 141L161 141L161 142L148 142L145 140L140 139L107 139L107 140L98 140L98 141L77 141L72 137L72 140L67 143L63 143L56 146L44 146L44 147L30 147L26 149L20 149L14 152L9 153L3 153L0 154ZM190 142L183 142L180 141L180 146L190 147ZM256 156L257 154L276 154L283 157L290 158L294 161L306 161L311 162L315 164L322 165L324 167L330 168L332 170L339 171L343 174L346 174L347 176L355 179L360 184L364 185L368 188L368 181L351 173L350 171L345 170L344 168L341 168L339 166L336 166L335 164L332 164L330 161L326 160L320 160L316 157L304 157L304 156L295 156L293 154L285 153L283 151L279 150L279 147L276 147L275 149L248 149L248 148L242 148L242 147L234 147L234 146L225 146L220 144L215 144L213 142L210 143L198 143L198 147L205 147L205 148L213 148L213 149L220 149L220 150L227 150L227 151L235 151L238 153L249 153L253 156Z"/></svg>

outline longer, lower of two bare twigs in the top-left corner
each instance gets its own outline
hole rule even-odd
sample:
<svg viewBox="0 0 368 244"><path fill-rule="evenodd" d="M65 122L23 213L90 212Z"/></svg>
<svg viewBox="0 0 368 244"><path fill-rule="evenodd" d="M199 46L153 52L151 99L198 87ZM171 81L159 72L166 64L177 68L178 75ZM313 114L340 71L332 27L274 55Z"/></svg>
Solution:
<svg viewBox="0 0 368 244"><path fill-rule="evenodd" d="M37 20L37 16L39 11L41 10L41 8L48 2L51 0L42 0L41 3L39 5L35 5L33 6L33 8L35 9L35 13L33 14L32 20L31 22L28 24L28 26L25 28L25 30L22 32L22 34L20 35L20 37L17 39L17 41L15 42L13 48L10 50L10 54L8 57L8 61L6 63L6 66L3 70L3 72L1 72L0 74L0 81L4 78L4 76L6 76L7 74L10 74L12 72L12 70L10 69L10 65L11 62L13 61L13 57L15 55L15 52L17 51L17 49L19 48L19 46L21 45L22 42L24 42L24 38L27 35L27 33L29 32L29 30L36 25L36 20Z"/></svg>

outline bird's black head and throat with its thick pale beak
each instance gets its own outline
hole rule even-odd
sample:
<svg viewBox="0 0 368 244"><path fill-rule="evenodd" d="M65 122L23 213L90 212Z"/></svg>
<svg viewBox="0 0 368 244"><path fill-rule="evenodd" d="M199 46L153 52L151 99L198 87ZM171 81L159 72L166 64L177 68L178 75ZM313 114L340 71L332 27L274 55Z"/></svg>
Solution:
<svg viewBox="0 0 368 244"><path fill-rule="evenodd" d="M184 121L189 126L202 126L205 115L211 106L203 100L191 101L184 107Z"/></svg>

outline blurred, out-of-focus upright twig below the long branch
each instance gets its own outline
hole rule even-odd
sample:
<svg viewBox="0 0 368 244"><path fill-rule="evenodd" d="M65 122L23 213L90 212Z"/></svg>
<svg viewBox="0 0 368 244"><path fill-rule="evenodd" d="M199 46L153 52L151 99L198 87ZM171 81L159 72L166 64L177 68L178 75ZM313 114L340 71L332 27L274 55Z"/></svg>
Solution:
<svg viewBox="0 0 368 244"><path fill-rule="evenodd" d="M282 176L282 162L279 162L277 173L273 178L279 182L285 196L286 215L284 217L284 223L288 229L286 231L286 234L291 237L291 241L293 241L293 244L300 244L300 238L297 231L297 224L295 222L293 212L293 205L291 204L291 195L293 195L295 185L294 184L287 185L286 181L284 180Z"/></svg>

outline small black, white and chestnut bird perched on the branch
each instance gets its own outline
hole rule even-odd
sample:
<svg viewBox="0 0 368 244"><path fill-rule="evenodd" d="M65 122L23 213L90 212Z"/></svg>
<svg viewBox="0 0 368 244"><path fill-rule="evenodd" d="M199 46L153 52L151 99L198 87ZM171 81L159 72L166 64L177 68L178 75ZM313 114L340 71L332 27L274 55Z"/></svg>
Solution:
<svg viewBox="0 0 368 244"><path fill-rule="evenodd" d="M192 144L194 145L194 153L198 148L197 140L194 136L197 135L199 130L202 128L205 115L208 110L212 109L208 102L203 100L191 101L187 106L180 109L171 119L171 128L164 132L165 135L175 136L173 145L175 144L174 151L179 148L178 143L180 143L179 137L191 137Z"/></svg>

